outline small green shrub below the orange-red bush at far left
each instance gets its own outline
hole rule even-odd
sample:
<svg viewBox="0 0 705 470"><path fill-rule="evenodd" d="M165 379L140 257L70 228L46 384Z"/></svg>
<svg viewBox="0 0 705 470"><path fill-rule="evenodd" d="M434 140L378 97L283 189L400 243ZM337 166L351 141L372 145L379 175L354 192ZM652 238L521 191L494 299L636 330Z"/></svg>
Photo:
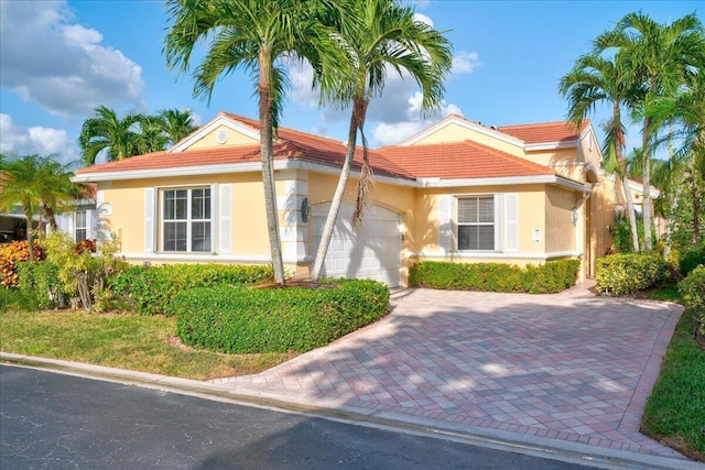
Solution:
<svg viewBox="0 0 705 470"><path fill-rule="evenodd" d="M50 261L25 262L18 265L20 291L34 297L36 309L64 305L65 292L58 277L58 266Z"/></svg>

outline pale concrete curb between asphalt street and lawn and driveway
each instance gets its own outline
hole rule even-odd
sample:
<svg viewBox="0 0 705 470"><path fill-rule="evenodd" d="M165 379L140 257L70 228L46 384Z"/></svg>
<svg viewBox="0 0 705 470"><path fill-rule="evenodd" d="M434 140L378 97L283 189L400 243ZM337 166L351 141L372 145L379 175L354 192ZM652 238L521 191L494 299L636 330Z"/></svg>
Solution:
<svg viewBox="0 0 705 470"><path fill-rule="evenodd" d="M225 386L209 382L133 372L102 365L7 352L0 352L0 360L8 364L41 369L86 379L141 386L234 404L258 406L382 429L401 430L419 436L430 436L533 457L584 466L595 466L604 469L702 470L704 468L702 463L690 460L615 450L581 442L547 439L520 433L406 416L397 413L340 406L339 404L323 401L312 404L291 398L283 400L268 393L252 393L245 390L232 391L231 385Z"/></svg>

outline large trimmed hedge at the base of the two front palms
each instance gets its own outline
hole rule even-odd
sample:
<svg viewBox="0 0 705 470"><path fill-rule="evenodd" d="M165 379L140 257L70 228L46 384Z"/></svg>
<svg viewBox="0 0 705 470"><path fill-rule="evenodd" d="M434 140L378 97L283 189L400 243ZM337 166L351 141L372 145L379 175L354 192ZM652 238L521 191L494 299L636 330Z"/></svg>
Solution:
<svg viewBox="0 0 705 470"><path fill-rule="evenodd" d="M180 293L174 310L185 345L227 353L305 352L387 315L389 288L361 280L319 288L202 287Z"/></svg>

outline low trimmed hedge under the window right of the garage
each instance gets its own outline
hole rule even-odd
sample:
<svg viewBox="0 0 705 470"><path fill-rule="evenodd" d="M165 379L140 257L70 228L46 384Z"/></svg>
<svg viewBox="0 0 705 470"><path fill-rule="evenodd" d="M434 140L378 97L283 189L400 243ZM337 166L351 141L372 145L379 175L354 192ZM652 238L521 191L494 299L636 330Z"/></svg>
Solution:
<svg viewBox="0 0 705 470"><path fill-rule="evenodd" d="M422 261L409 273L409 284L454 291L528 292L550 294L575 284L578 260L552 261L539 266L503 263Z"/></svg>

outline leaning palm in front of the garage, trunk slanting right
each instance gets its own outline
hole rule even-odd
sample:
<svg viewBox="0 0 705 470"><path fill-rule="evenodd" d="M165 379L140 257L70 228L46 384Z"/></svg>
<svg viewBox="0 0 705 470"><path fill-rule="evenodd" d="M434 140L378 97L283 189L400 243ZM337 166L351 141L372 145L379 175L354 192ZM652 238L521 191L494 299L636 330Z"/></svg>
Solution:
<svg viewBox="0 0 705 470"><path fill-rule="evenodd" d="M419 21L411 8L393 0L352 0L351 11L357 19L328 17L338 31L344 50L349 55L346 63L350 73L341 75L333 94L324 96L340 107L351 103L347 152L338 184L324 225L321 243L311 270L311 280L317 282L323 270L330 238L343 203L343 195L352 167L357 133L362 139L364 165L358 184L358 197L354 223L359 222L367 201L367 186L371 176L367 157L365 117L370 100L384 89L388 70L406 73L416 80L423 94L422 112L438 109L443 102L444 80L452 62L452 45L443 34ZM403 76L403 75L402 75Z"/></svg>

